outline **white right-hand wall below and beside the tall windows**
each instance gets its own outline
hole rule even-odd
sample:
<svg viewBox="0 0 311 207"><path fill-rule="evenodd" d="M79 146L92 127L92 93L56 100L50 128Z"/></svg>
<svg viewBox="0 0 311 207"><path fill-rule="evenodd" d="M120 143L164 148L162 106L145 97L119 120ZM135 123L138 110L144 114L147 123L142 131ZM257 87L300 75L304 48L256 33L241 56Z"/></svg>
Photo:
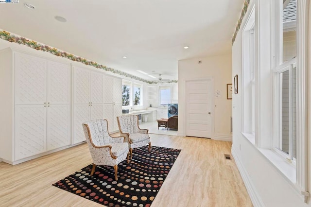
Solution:
<svg viewBox="0 0 311 207"><path fill-rule="evenodd" d="M266 1L269 2L269 1ZM251 0L251 4L254 0ZM251 7L249 7L251 8ZM239 83L242 78L242 28L245 20L249 15L250 9L243 19L241 29L236 37L235 43L232 46L232 79L235 74L239 75ZM310 22L309 22L310 23ZM310 55L310 54L309 54ZM311 73L309 66L309 74ZM311 77L311 76L309 76ZM239 86L242 86L239 84ZM310 84L309 84L310 89ZM309 91L309 94L310 91ZM309 99L310 100L310 99ZM300 193L294 190L290 181L288 181L276 167L263 156L257 147L242 135L242 88L239 88L238 94L233 94L232 105L235 107L232 110L233 114L233 144L232 154L242 174L244 183L252 198L254 206L266 207L311 207L309 199L308 204L304 203ZM309 115L311 104L309 104ZM265 112L264 108L260 109L261 113ZM269 111L266 111L269 115ZM309 119L310 120L310 119ZM261 133L264 129L260 129ZM310 143L309 132L309 143ZM310 157L309 144L309 157ZM309 159L309 174L311 160ZM310 177L310 176L309 176ZM309 178L309 189L311 181Z"/></svg>

